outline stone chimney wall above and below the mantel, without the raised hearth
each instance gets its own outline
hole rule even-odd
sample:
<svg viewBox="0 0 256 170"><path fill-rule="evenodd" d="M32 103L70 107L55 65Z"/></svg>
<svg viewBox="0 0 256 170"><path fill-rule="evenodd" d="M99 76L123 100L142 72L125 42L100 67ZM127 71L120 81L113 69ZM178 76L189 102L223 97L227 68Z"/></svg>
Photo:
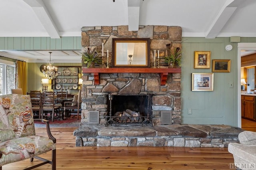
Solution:
<svg viewBox="0 0 256 170"><path fill-rule="evenodd" d="M82 51L87 47L97 47L101 54L104 43L104 56L109 51L109 66L112 60L112 38L150 38L150 67L154 67L154 50L160 53L160 68L168 68L164 63L167 55L166 44L171 48L181 48L182 29L179 26L146 25L138 31L128 31L128 25L82 27ZM106 64L106 57L104 63ZM97 66L96 66L97 67ZM99 68L101 65L98 66ZM112 73L100 74L100 84L94 85L93 74L82 75L82 123L88 123L89 111L100 112L100 124L106 122L108 115L108 94L152 96L153 125L160 125L160 112L171 111L172 123L181 123L181 73L169 73L165 85L160 85L158 73ZM113 113L112 113L113 115Z"/></svg>

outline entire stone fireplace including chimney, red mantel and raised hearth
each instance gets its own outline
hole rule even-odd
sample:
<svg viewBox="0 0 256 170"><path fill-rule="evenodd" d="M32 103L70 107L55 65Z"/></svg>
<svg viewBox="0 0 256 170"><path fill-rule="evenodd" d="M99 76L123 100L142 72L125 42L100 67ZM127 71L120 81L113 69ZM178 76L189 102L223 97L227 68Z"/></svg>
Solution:
<svg viewBox="0 0 256 170"><path fill-rule="evenodd" d="M138 31L128 31L126 25L82 27L83 48L93 46L101 51L103 42L104 56L107 49L112 50L112 38L150 38L150 68L112 68L111 64L110 68L82 68L82 119L74 131L76 147L227 147L230 142L238 142L240 129L181 124L181 69L167 68L164 62L166 45L181 49L181 34L181 27L164 25L140 26ZM160 68L153 68L154 50L160 52ZM111 63L111 53L109 57ZM111 109L109 95L114 99ZM127 103L120 106L123 101ZM110 112L122 117L126 109L143 116L149 112L153 127L104 126ZM92 112L97 113L99 123L91 124Z"/></svg>

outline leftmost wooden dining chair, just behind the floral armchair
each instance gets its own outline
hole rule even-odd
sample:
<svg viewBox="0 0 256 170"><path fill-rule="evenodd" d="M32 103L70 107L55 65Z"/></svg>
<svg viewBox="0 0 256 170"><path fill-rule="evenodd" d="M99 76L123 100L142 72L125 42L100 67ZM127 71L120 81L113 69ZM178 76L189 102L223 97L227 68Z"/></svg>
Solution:
<svg viewBox="0 0 256 170"><path fill-rule="evenodd" d="M38 118L40 119L42 116L41 92L30 92L27 94L30 95L34 117L37 116L37 113L38 113Z"/></svg>

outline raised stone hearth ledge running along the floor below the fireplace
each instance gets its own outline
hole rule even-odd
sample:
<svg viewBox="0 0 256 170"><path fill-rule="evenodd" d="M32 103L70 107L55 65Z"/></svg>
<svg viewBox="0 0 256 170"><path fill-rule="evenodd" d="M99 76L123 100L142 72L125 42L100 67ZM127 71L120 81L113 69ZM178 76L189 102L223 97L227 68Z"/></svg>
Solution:
<svg viewBox="0 0 256 170"><path fill-rule="evenodd" d="M82 124L74 131L76 147L82 146L152 146L152 147L228 147L238 141L240 128L228 125L173 124L156 127L138 125Z"/></svg>

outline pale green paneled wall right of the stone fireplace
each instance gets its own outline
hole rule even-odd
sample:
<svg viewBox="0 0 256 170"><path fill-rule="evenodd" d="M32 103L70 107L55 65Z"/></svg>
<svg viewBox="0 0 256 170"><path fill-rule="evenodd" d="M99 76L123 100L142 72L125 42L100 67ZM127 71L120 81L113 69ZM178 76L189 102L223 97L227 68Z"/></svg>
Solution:
<svg viewBox="0 0 256 170"><path fill-rule="evenodd" d="M182 123L188 124L225 124L238 127L238 88L237 82L237 43L230 43L229 37L205 39L203 37L182 38ZM241 43L255 43L255 37L241 37ZM233 45L226 51L226 45ZM211 51L210 69L194 69L194 52ZM230 72L214 72L213 92L192 92L191 73L211 73L212 59L230 59ZM188 114L192 109L192 114Z"/></svg>

